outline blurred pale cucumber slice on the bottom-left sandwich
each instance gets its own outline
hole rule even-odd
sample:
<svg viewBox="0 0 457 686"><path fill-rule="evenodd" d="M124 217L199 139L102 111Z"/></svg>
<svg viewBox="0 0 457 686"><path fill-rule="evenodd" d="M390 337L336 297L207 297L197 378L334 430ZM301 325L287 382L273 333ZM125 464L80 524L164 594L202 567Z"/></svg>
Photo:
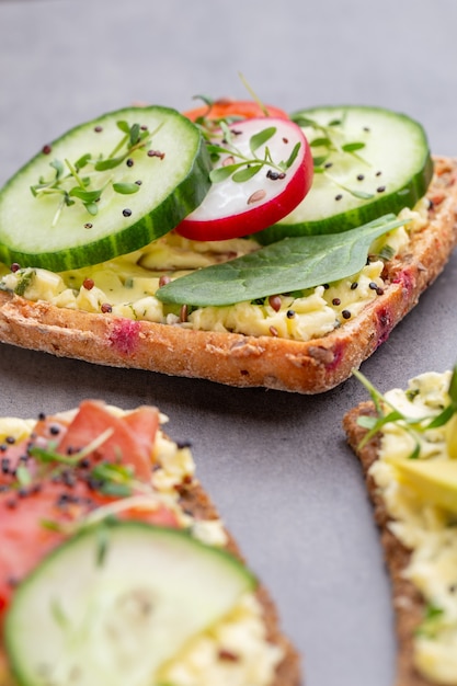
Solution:
<svg viewBox="0 0 457 686"><path fill-rule="evenodd" d="M5 644L20 686L144 686L255 586L243 564L179 529L85 529L18 587Z"/></svg>

